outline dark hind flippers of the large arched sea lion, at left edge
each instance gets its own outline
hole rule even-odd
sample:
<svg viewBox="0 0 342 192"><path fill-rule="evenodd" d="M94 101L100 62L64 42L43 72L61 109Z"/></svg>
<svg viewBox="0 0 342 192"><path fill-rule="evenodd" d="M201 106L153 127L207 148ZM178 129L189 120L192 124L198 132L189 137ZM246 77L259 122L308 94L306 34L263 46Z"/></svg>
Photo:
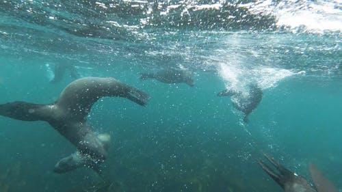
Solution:
<svg viewBox="0 0 342 192"><path fill-rule="evenodd" d="M0 105L0 115L22 121L39 121L49 118L46 105L15 101Z"/></svg>

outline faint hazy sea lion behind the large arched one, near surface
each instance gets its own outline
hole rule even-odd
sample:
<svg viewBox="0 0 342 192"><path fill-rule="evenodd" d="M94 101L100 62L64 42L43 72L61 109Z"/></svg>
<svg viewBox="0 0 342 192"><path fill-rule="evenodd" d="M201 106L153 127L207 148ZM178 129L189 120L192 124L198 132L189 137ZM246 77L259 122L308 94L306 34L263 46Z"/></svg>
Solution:
<svg viewBox="0 0 342 192"><path fill-rule="evenodd" d="M66 64L66 63L58 63L55 64L55 71L54 77L50 81L50 83L58 83L62 80L62 77L66 70L69 70L70 77L72 79L78 79L80 77L79 73L77 72L75 66L73 64Z"/></svg>

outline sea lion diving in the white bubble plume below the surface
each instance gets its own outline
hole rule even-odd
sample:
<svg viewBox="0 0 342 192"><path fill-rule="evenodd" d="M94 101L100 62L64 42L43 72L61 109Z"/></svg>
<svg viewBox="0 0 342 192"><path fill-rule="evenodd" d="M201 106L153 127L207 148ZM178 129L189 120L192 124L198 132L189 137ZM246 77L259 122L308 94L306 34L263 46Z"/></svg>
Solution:
<svg viewBox="0 0 342 192"><path fill-rule="evenodd" d="M224 90L218 96L231 96L235 109L244 113L244 122L248 122L248 115L257 108L263 98L263 90L257 84L250 84L248 94L234 90Z"/></svg>

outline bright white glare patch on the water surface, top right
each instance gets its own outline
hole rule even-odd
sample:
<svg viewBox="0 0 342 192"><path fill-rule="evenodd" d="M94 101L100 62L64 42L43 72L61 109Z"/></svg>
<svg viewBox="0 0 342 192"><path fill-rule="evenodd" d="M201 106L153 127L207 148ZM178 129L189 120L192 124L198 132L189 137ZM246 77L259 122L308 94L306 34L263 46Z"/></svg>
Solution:
<svg viewBox="0 0 342 192"><path fill-rule="evenodd" d="M242 4L253 14L270 14L276 17L278 27L289 28L297 33L309 31L324 33L325 31L342 31L342 1L257 1Z"/></svg>

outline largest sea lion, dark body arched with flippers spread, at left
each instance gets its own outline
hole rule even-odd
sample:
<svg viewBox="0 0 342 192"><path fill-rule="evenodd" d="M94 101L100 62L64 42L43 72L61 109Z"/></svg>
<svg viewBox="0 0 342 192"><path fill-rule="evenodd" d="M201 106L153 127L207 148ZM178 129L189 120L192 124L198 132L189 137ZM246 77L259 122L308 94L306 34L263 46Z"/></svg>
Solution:
<svg viewBox="0 0 342 192"><path fill-rule="evenodd" d="M106 159L107 150L86 119L94 102L105 96L128 98L142 106L149 98L148 94L114 78L86 77L66 86L53 104L8 102L0 105L0 115L16 120L49 122L80 154L97 164Z"/></svg>

